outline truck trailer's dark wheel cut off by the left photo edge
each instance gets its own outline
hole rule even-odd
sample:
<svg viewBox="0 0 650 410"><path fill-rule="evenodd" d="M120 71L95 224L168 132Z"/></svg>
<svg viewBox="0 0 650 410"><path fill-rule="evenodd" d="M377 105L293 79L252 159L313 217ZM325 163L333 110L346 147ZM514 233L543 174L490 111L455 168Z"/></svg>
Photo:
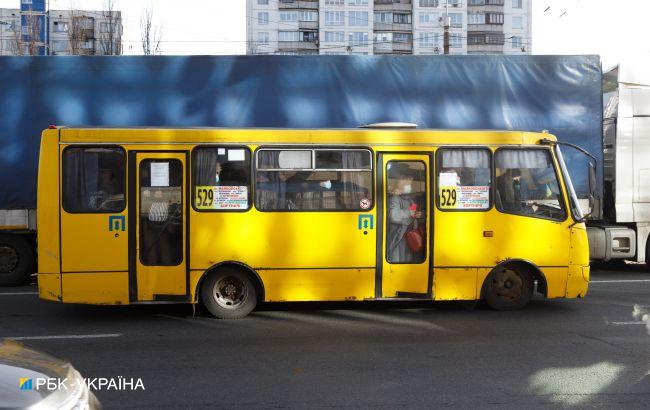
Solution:
<svg viewBox="0 0 650 410"><path fill-rule="evenodd" d="M20 235L0 235L0 286L18 286L34 273L34 250Z"/></svg>

